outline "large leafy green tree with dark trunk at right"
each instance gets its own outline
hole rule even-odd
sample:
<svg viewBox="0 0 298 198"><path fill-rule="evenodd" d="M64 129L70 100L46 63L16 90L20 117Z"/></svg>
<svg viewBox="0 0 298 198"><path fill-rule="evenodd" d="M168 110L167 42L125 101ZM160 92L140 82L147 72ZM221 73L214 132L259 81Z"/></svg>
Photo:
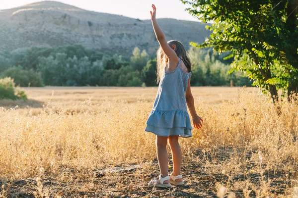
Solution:
<svg viewBox="0 0 298 198"><path fill-rule="evenodd" d="M245 73L253 85L269 91L273 99L278 96L278 89L295 90L297 0L181 1L190 4L187 10L202 22L213 22L208 26L210 38L200 45L192 43L193 46L231 51L235 58L233 69Z"/></svg>

